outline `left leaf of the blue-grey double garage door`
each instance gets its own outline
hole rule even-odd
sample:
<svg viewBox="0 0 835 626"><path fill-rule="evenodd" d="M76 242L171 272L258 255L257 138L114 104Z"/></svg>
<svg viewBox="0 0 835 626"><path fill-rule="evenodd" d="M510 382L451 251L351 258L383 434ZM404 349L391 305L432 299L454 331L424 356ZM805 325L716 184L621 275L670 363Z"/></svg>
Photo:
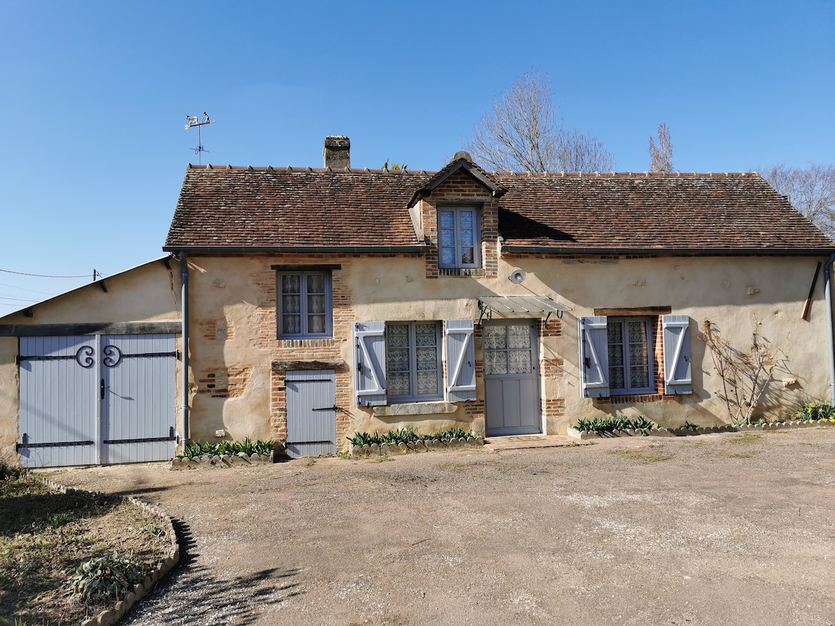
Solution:
<svg viewBox="0 0 835 626"><path fill-rule="evenodd" d="M20 338L23 467L97 462L95 346L95 336Z"/></svg>

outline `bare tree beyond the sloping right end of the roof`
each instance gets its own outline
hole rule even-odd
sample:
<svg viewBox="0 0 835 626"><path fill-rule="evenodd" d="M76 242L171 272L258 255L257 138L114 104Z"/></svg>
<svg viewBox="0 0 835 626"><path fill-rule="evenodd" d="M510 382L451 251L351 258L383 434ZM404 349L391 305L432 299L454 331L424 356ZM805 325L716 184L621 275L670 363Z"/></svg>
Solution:
<svg viewBox="0 0 835 626"><path fill-rule="evenodd" d="M760 174L824 235L835 239L835 164L813 163L800 169L781 163Z"/></svg>

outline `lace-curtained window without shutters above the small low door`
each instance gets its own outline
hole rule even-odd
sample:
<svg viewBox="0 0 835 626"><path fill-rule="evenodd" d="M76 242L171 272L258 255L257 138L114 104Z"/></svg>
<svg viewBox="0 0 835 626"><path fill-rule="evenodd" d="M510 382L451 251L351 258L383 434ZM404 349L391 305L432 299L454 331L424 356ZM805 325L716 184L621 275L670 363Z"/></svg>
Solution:
<svg viewBox="0 0 835 626"><path fill-rule="evenodd" d="M279 338L329 337L331 319L330 272L279 272Z"/></svg>

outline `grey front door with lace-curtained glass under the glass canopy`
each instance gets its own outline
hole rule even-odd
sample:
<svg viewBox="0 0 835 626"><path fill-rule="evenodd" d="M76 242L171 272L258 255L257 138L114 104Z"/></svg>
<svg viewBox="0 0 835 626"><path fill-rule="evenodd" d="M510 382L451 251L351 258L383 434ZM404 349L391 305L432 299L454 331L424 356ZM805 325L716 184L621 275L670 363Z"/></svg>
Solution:
<svg viewBox="0 0 835 626"><path fill-rule="evenodd" d="M542 432L534 321L489 322L482 337L488 437Z"/></svg>

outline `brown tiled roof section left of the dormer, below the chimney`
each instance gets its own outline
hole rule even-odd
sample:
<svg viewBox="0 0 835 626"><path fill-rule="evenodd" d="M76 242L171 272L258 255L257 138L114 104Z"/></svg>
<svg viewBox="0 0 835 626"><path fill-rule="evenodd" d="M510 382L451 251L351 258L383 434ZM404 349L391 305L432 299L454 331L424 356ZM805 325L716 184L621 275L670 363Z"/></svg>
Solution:
<svg viewBox="0 0 835 626"><path fill-rule="evenodd" d="M406 203L431 174L377 169L190 167L165 250L190 246L402 246Z"/></svg>

